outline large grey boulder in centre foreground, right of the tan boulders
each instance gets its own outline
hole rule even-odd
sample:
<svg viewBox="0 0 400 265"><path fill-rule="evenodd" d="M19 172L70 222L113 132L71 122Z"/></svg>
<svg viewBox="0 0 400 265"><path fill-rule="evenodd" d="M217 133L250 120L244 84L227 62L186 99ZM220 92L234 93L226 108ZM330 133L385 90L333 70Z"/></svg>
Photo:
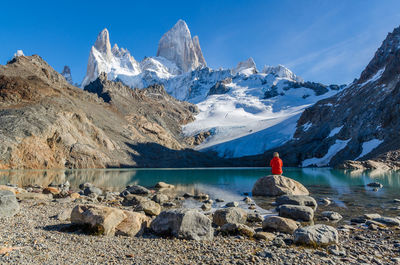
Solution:
<svg viewBox="0 0 400 265"><path fill-rule="evenodd" d="M151 229L156 234L180 239L212 240L214 237L211 220L194 209L164 211L153 220Z"/></svg>

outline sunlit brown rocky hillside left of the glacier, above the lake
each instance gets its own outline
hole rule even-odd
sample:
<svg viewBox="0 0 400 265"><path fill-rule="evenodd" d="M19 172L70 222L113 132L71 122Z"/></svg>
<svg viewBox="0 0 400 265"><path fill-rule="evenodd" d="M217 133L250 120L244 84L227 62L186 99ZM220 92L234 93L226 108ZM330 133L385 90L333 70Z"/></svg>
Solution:
<svg viewBox="0 0 400 265"><path fill-rule="evenodd" d="M0 66L0 168L183 167L222 163L191 150L181 125L194 105L161 86L132 90L99 77L70 85L39 56Z"/></svg>

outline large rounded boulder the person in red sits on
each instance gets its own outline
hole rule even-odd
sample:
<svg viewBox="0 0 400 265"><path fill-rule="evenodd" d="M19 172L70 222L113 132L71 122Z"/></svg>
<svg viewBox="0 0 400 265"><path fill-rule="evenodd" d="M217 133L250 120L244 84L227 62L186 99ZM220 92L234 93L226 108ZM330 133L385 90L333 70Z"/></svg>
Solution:
<svg viewBox="0 0 400 265"><path fill-rule="evenodd" d="M281 175L259 178L253 186L252 193L253 196L309 195L301 183Z"/></svg>

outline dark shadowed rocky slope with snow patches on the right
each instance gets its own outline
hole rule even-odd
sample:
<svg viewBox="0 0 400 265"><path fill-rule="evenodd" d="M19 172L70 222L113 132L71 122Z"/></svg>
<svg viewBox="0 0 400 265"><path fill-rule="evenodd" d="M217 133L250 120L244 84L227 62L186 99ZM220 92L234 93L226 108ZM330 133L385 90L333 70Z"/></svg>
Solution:
<svg viewBox="0 0 400 265"><path fill-rule="evenodd" d="M273 151L240 160L260 165ZM276 151L291 166L400 168L400 27L359 79L306 109L294 139Z"/></svg>

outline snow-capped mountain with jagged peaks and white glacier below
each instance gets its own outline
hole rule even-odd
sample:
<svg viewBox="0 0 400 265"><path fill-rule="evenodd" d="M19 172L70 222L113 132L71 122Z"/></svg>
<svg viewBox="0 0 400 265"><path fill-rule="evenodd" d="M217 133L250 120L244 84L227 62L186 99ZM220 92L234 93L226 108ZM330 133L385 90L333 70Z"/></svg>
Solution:
<svg viewBox="0 0 400 265"><path fill-rule="evenodd" d="M293 138L303 110L341 88L304 82L286 67L257 69L252 58L233 69L206 66L199 38L179 20L160 41L156 57L137 62L128 50L111 49L109 32L97 37L89 55L82 87L101 72L131 88L162 84L179 100L197 104L196 120L183 128L186 136L204 134L198 150L224 157L260 154Z"/></svg>

